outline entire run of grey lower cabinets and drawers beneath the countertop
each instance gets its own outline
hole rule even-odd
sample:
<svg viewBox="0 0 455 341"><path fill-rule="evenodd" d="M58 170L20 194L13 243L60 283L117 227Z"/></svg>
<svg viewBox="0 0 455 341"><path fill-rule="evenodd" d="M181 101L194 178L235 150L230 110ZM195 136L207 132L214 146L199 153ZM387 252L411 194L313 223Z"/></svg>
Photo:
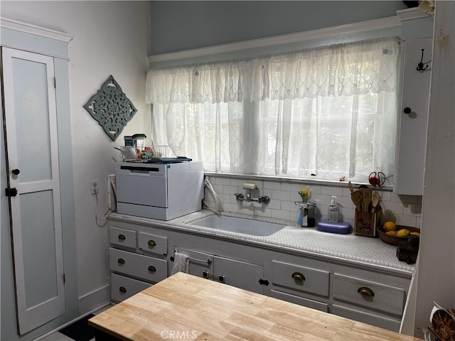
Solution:
<svg viewBox="0 0 455 341"><path fill-rule="evenodd" d="M400 329L411 276L152 224L108 220L108 227L112 302L163 280L183 264L186 272L208 281Z"/></svg>

